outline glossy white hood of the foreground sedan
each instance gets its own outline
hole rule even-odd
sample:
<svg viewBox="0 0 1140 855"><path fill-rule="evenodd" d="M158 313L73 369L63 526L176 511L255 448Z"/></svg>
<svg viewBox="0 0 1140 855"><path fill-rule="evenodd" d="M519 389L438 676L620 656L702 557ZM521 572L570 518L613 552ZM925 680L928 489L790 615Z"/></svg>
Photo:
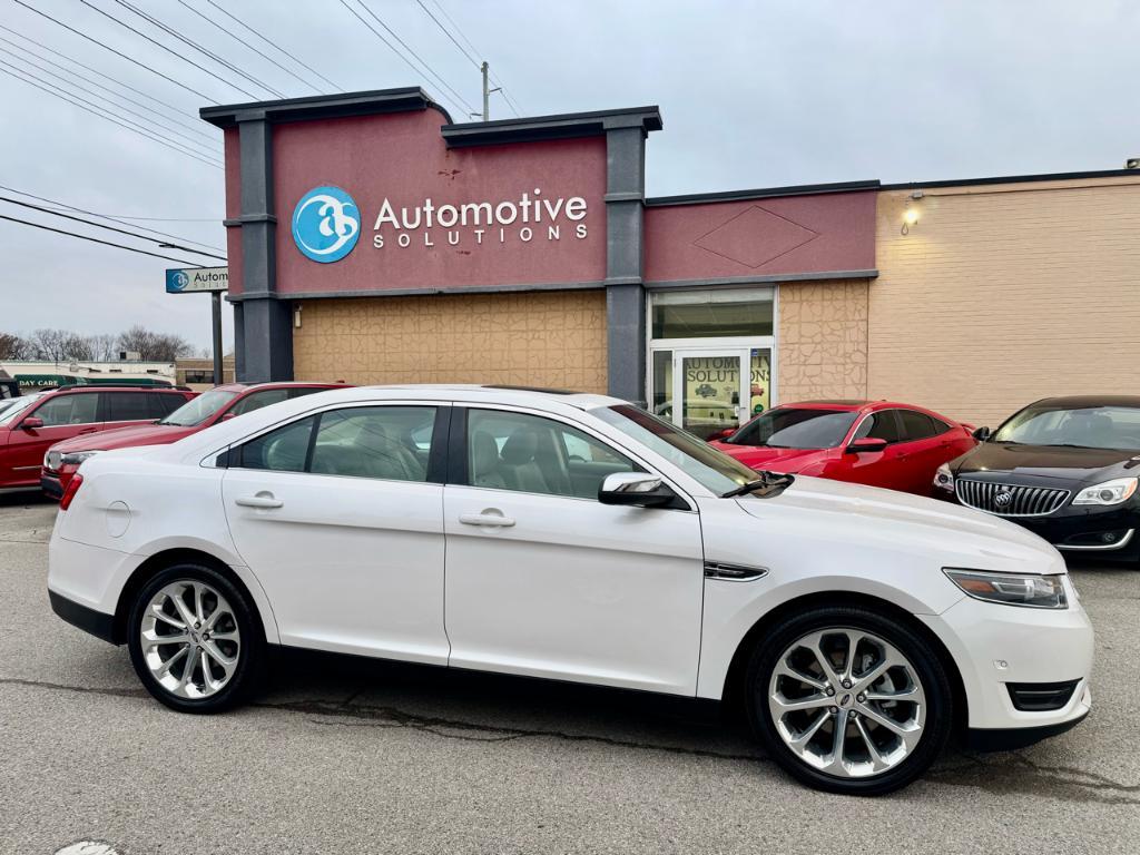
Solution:
<svg viewBox="0 0 1140 855"><path fill-rule="evenodd" d="M811 520L815 540L837 554L860 546L910 553L914 565L1009 572L1065 572L1065 560L1028 529L948 502L863 484L797 475L776 498L741 496L741 508L775 531Z"/></svg>

